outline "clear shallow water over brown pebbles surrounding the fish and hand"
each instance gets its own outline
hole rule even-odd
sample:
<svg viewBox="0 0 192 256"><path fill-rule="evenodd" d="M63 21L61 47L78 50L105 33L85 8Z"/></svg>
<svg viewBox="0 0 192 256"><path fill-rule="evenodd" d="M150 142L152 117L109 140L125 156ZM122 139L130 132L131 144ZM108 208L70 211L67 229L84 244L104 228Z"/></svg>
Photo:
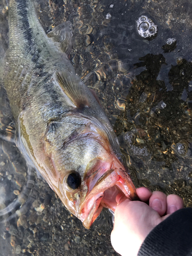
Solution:
<svg viewBox="0 0 192 256"><path fill-rule="evenodd" d="M0 1L0 59L8 46L5 7ZM192 206L190 1L38 0L37 12L47 33L71 21L70 60L96 91L134 184ZM143 16L157 35L138 33ZM84 229L26 163L2 87L0 95L0 255L117 255L108 212Z"/></svg>

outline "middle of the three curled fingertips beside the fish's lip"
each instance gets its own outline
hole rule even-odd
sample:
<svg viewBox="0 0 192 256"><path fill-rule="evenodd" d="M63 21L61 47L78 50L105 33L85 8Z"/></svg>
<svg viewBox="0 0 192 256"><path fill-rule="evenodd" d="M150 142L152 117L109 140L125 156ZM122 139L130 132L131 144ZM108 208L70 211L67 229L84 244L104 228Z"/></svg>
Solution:
<svg viewBox="0 0 192 256"><path fill-rule="evenodd" d="M154 191L150 197L149 205L156 210L160 216L163 216L166 211L166 195L160 191Z"/></svg>

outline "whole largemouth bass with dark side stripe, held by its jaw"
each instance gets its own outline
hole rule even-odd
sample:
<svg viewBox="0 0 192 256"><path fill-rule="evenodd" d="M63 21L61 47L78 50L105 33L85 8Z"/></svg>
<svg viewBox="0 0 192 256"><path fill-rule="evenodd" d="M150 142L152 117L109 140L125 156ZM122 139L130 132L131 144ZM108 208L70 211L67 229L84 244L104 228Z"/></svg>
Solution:
<svg viewBox="0 0 192 256"><path fill-rule="evenodd" d="M17 146L84 227L116 208L135 186L96 93L69 60L69 21L46 34L35 1L9 0L9 49L0 68L18 131Z"/></svg>

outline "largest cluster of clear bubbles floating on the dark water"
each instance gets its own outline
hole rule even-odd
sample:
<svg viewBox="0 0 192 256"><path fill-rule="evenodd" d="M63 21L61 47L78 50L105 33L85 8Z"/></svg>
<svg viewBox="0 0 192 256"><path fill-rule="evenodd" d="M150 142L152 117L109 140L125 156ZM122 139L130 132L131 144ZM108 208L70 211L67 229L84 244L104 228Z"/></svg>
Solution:
<svg viewBox="0 0 192 256"><path fill-rule="evenodd" d="M137 32L141 37L144 38L153 38L157 35L158 27L155 25L152 19L147 16L141 16L136 21Z"/></svg>

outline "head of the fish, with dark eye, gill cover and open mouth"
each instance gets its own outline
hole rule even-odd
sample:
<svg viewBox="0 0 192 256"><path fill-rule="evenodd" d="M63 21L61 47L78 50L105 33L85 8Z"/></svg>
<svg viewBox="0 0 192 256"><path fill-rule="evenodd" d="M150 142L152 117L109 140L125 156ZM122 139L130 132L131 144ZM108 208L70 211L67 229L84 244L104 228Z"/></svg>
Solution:
<svg viewBox="0 0 192 256"><path fill-rule="evenodd" d="M114 211L117 194L134 200L135 186L102 127L76 116L54 123L54 129L50 125L45 139L50 163L46 180L84 227L90 228L103 207Z"/></svg>

